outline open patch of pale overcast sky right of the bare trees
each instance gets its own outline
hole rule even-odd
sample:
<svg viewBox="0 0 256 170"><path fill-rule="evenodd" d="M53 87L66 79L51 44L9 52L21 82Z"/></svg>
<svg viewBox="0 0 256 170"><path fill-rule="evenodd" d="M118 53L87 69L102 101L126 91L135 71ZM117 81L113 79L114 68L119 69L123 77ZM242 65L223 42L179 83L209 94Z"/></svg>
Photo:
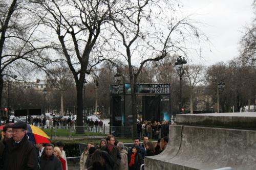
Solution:
<svg viewBox="0 0 256 170"><path fill-rule="evenodd" d="M212 65L238 56L243 27L253 18L252 0L185 0L184 9L206 23L201 30L209 37L211 51L203 51L202 62ZM196 58L191 58L194 62ZM190 59L190 61L191 61ZM196 61L199 62L199 61Z"/></svg>

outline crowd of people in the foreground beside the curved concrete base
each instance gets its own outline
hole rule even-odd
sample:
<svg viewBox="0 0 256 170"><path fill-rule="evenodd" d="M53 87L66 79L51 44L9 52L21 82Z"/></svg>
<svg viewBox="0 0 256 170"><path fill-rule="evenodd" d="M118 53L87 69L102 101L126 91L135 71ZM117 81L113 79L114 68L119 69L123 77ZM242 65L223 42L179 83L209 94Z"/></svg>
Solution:
<svg viewBox="0 0 256 170"><path fill-rule="evenodd" d="M98 145L88 143L81 154L80 170L139 170L145 156L160 154L168 143L166 136L154 143L147 136L143 136L142 140L140 144L140 138L135 138L130 148L115 140L113 135L101 139Z"/></svg>

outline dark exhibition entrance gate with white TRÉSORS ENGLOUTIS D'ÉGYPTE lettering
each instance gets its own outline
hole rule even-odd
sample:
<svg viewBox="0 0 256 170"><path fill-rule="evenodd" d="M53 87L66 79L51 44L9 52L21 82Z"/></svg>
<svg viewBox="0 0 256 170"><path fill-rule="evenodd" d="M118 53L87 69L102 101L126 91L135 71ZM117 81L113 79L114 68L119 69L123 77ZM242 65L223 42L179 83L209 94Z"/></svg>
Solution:
<svg viewBox="0 0 256 170"><path fill-rule="evenodd" d="M170 84L137 84L137 96L142 96L143 120L170 120ZM131 84L110 85L110 124L132 126Z"/></svg>

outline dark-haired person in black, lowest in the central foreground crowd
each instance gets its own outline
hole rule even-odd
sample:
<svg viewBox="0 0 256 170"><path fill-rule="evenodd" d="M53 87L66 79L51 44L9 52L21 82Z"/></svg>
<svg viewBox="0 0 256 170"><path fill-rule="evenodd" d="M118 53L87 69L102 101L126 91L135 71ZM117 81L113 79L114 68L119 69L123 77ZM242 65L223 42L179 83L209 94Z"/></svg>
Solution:
<svg viewBox="0 0 256 170"><path fill-rule="evenodd" d="M88 170L112 170L114 160L105 151L95 150L92 155L92 166Z"/></svg>

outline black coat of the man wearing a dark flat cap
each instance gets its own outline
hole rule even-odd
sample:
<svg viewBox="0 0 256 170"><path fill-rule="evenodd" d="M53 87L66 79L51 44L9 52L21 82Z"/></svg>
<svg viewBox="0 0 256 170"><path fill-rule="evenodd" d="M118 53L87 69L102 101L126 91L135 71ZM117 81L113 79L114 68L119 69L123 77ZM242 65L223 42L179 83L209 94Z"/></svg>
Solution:
<svg viewBox="0 0 256 170"><path fill-rule="evenodd" d="M25 136L19 143L11 138L6 140L3 154L4 170L38 170L39 156L34 144Z"/></svg>

